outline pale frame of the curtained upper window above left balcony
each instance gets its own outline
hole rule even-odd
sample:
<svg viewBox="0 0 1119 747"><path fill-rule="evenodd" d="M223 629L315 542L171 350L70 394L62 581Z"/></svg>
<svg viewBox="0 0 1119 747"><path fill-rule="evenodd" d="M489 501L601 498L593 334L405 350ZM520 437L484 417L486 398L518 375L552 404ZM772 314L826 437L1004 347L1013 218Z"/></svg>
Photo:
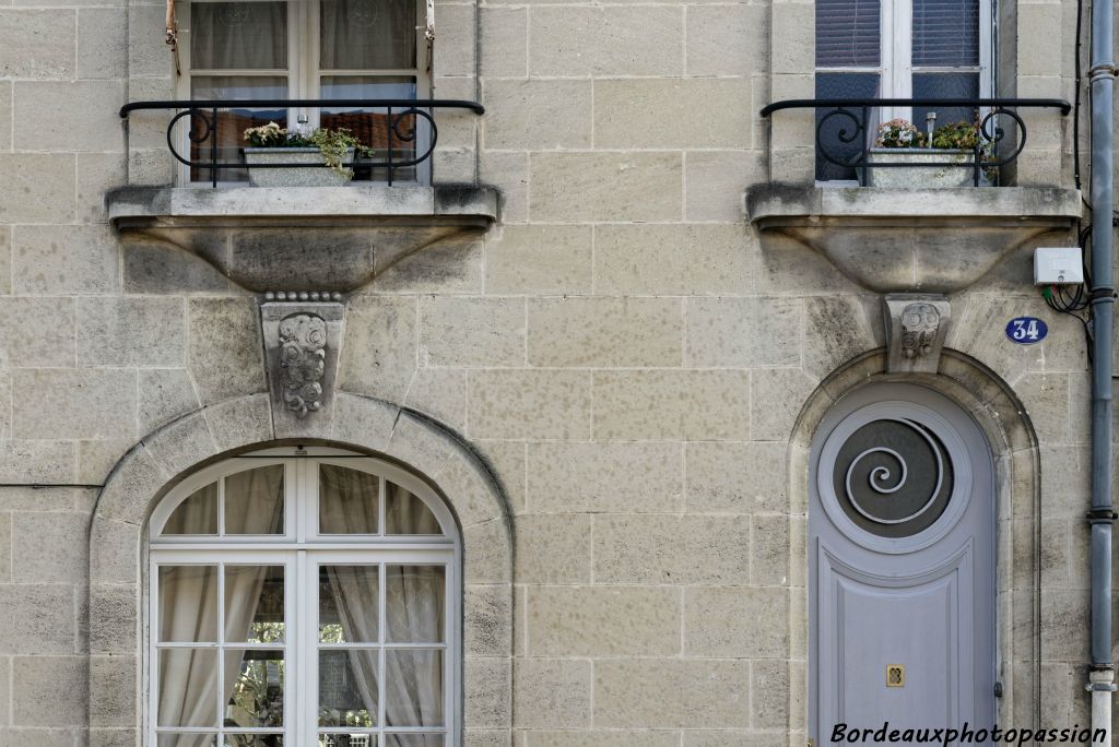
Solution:
<svg viewBox="0 0 1119 747"><path fill-rule="evenodd" d="M425 36L424 18L427 16L426 0L414 0L416 3L416 28L415 28L415 67L411 68L363 68L352 70L319 69L320 53L320 0L284 0L288 8L288 68L286 70L261 70L261 69L195 69L190 57L190 35L194 28L190 2L182 2L178 8L178 18L181 28L179 29L179 59L181 74L177 79L177 93L179 98L189 100L191 95L191 82L195 76L248 76L248 77L286 77L286 98L321 98L322 78L327 76L384 76L384 77L414 77L416 81L416 98L431 98L432 94L432 56L425 50L431 44ZM319 108L291 107L288 110L289 123L304 123L304 126L314 129L319 126ZM305 117L305 120L304 120ZM189 154L190 142L187 138L186 123L179 125L181 132L177 141L180 153ZM430 126L423 117L416 117L416 142L427 142ZM213 182L209 179L200 181L190 180L190 167L178 163L178 183L184 187L209 187ZM431 159L415 167L416 179L421 185L430 183ZM243 182L227 181L218 179L218 185L243 186Z"/></svg>

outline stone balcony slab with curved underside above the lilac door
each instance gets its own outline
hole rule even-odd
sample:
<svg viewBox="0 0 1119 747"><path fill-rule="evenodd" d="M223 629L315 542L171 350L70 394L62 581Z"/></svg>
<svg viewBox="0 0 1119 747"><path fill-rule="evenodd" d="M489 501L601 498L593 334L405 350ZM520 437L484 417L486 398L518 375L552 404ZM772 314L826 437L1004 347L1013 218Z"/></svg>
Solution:
<svg viewBox="0 0 1119 747"><path fill-rule="evenodd" d="M761 185L746 192L763 250L788 236L877 293L955 293L1023 243L1066 231L1078 190L1050 187L887 189Z"/></svg>

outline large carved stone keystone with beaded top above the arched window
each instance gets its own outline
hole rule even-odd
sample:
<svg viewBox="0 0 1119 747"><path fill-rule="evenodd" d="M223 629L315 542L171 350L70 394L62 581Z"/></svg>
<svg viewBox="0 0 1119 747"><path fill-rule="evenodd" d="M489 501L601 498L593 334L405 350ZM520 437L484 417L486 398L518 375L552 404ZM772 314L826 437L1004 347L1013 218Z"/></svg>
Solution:
<svg viewBox="0 0 1119 747"><path fill-rule="evenodd" d="M261 303L265 371L279 437L330 433L346 305L336 294L314 296L312 301L308 293L269 293Z"/></svg>

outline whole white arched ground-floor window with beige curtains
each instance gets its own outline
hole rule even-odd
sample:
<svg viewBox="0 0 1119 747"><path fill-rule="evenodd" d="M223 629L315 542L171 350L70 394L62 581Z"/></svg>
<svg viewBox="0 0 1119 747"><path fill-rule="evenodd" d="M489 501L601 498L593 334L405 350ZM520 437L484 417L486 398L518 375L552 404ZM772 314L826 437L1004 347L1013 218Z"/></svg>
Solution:
<svg viewBox="0 0 1119 747"><path fill-rule="evenodd" d="M339 450L199 471L150 523L152 747L450 747L459 541L422 480Z"/></svg>

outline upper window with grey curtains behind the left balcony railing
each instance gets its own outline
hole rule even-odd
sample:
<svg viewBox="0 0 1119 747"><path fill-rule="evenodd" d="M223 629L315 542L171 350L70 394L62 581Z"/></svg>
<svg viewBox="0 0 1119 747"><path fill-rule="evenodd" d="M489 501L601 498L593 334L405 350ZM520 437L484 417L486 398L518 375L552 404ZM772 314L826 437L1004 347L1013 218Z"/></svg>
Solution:
<svg viewBox="0 0 1119 747"><path fill-rule="evenodd" d="M181 19L186 55L182 91L192 100L339 100L426 98L430 95L424 25L417 0L194 0ZM248 127L275 122L310 132L314 127L348 129L387 159L389 126L385 107L236 108L220 113L219 160L237 159ZM398 130L422 129L406 117ZM196 127L201 126L196 123ZM423 132L406 141L392 138L393 160L414 158ZM191 161L209 159L210 141L191 145ZM377 174L357 170L357 178ZM396 179L416 179L416 169L401 169ZM206 168L190 170L194 181L211 178ZM242 181L244 172L223 170L223 181Z"/></svg>

